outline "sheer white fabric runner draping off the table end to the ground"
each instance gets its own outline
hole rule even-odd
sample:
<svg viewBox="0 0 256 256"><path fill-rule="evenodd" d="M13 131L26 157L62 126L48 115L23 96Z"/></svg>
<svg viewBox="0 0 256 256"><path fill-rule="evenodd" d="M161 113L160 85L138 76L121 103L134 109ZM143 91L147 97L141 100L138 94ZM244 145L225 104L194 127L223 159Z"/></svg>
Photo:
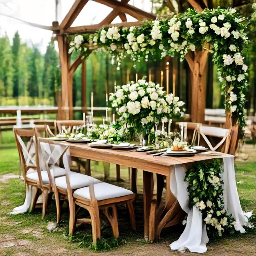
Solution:
<svg viewBox="0 0 256 256"><path fill-rule="evenodd" d="M223 157L222 173L223 180L223 199L225 209L234 217L236 224L235 229L241 233L245 233L243 225L245 224L245 216L240 205L238 191L236 188L236 177L234 168L234 156L227 155ZM187 191L188 183L184 181L186 168L184 165L175 165L175 171L171 173L170 185L171 192L177 198L181 208L188 214L186 227L180 238L171 243L173 250L184 251L189 249L190 252L204 253L207 251L206 244L209 242L207 230L203 225L202 214L194 206L189 209L189 193Z"/></svg>

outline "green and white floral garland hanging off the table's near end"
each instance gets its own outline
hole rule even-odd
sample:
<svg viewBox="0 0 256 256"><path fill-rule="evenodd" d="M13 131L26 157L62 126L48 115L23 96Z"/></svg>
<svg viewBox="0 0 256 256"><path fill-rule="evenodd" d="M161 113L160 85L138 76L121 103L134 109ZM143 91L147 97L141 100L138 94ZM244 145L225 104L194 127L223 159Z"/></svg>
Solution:
<svg viewBox="0 0 256 256"><path fill-rule="evenodd" d="M224 209L220 161L197 162L186 172L184 180L189 183L189 208L197 207L207 230L222 236L234 234L234 218Z"/></svg>

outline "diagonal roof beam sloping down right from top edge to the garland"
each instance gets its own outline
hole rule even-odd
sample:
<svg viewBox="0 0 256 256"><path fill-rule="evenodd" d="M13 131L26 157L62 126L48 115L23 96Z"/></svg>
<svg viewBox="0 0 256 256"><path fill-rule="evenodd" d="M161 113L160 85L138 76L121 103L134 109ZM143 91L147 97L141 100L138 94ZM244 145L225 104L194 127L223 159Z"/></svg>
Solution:
<svg viewBox="0 0 256 256"><path fill-rule="evenodd" d="M129 14L130 16L136 18L137 20L143 20L143 19L155 20L156 18L156 16L153 13L148 13L137 7L134 7L133 5L130 5L124 2L119 2L117 0L94 0L94 2L105 4L111 8L118 7L120 11Z"/></svg>

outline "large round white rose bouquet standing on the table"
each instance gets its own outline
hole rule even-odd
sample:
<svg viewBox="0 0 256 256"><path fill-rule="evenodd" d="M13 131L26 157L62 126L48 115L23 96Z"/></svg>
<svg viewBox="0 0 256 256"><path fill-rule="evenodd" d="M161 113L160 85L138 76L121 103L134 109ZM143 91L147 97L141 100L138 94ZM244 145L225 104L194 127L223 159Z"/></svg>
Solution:
<svg viewBox="0 0 256 256"><path fill-rule="evenodd" d="M163 87L146 80L133 81L117 86L110 94L112 107L117 109L121 120L125 121L140 135L145 129L153 128L164 117L179 117L184 102L173 94L166 94Z"/></svg>

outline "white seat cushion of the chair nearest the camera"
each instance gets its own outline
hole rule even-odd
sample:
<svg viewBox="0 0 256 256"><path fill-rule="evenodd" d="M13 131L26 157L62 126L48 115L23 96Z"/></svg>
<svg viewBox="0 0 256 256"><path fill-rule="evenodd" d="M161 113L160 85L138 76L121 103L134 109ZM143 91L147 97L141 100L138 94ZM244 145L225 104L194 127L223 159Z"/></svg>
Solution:
<svg viewBox="0 0 256 256"><path fill-rule="evenodd" d="M108 184L106 182L101 182L98 184L94 184L94 194L95 198L100 201L110 198L118 198L125 195L132 195L133 192L119 186ZM77 189L76 191L74 191L74 195L79 195L83 198L90 200L89 187Z"/></svg>

